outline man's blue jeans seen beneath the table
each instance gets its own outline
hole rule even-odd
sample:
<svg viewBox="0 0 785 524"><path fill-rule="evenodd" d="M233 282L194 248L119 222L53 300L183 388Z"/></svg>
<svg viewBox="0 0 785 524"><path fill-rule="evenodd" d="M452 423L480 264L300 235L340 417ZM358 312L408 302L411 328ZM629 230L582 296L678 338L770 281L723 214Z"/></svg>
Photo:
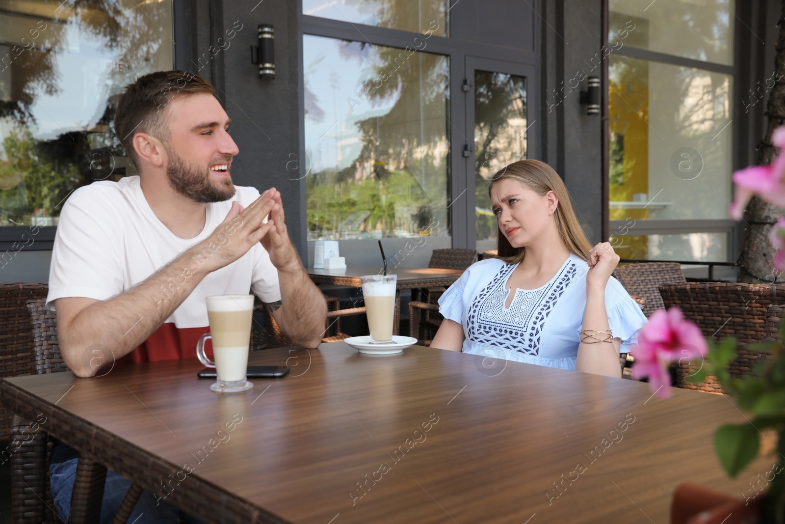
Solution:
<svg viewBox="0 0 785 524"><path fill-rule="evenodd" d="M74 480L76 478L76 464L79 459L66 460L60 464L49 466L52 474L50 484L52 486L52 497L57 515L63 522L68 522L68 515L71 513L71 493L74 491ZM115 518L115 513L120 508L123 497L126 496L131 482L122 475L114 471L107 470L106 483L104 484L104 501L100 508L100 524L111 524ZM144 490L139 497L137 505L131 512L128 522L133 524L145 524L155 522L161 524L178 524L181 522L181 513L171 504L166 504L163 500L156 500L157 497L147 490ZM184 517L188 519L188 517ZM188 522L195 522L188 519Z"/></svg>

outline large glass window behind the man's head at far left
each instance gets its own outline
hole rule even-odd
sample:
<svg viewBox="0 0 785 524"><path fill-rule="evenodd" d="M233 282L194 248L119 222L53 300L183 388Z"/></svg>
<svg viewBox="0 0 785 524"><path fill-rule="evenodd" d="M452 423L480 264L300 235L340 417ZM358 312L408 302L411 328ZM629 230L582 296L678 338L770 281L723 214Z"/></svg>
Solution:
<svg viewBox="0 0 785 524"><path fill-rule="evenodd" d="M172 68L172 5L0 0L0 12L0 225L55 225L74 189L136 173L109 98Z"/></svg>

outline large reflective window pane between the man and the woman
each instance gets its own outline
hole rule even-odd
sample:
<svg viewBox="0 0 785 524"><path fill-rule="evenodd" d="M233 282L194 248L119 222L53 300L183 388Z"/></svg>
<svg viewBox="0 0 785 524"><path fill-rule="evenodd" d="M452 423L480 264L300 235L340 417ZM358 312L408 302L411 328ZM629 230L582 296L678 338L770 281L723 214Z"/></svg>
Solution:
<svg viewBox="0 0 785 524"><path fill-rule="evenodd" d="M303 37L308 238L447 236L447 57Z"/></svg>

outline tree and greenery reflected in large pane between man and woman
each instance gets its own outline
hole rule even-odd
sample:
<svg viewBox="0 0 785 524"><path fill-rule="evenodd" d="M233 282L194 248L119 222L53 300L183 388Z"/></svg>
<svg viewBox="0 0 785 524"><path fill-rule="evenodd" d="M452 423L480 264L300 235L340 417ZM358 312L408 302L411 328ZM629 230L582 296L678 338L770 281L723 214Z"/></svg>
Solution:
<svg viewBox="0 0 785 524"><path fill-rule="evenodd" d="M431 53L341 42L345 60L373 56L371 79L356 111L385 114L356 122L362 147L344 169L307 179L312 238L413 236L433 223L447 230L447 58ZM355 95L352 94L352 97ZM309 114L323 115L311 94ZM381 109L378 110L381 112ZM313 118L313 117L312 117Z"/></svg>

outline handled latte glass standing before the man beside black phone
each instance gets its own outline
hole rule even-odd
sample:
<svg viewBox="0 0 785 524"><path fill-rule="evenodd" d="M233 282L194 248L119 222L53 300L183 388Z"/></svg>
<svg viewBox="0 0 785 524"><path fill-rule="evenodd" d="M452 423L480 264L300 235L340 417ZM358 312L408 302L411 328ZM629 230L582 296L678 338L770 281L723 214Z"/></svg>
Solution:
<svg viewBox="0 0 785 524"><path fill-rule="evenodd" d="M246 379L250 324L254 295L215 295L206 298L210 332L199 338L196 356L208 368L215 368L217 379L210 390L218 393L245 391L254 387ZM204 353L207 339L213 339L215 361Z"/></svg>

